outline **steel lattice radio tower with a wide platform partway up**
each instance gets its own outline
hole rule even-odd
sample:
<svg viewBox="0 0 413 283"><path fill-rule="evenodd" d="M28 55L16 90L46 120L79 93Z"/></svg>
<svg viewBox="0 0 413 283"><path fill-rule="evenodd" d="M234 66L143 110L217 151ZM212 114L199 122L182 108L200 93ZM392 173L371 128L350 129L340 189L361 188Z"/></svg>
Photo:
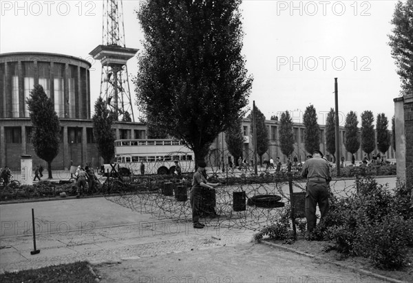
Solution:
<svg viewBox="0 0 413 283"><path fill-rule="evenodd" d="M126 63L136 52L138 49L125 46L122 0L104 0L102 45L89 54L102 63L100 96L118 120L127 122L135 122L135 118Z"/></svg>

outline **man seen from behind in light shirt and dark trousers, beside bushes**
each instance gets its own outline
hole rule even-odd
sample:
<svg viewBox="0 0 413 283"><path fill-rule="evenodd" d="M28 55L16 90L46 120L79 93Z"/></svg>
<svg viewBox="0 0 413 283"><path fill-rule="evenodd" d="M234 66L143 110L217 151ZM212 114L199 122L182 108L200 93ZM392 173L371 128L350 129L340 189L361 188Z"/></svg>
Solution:
<svg viewBox="0 0 413 283"><path fill-rule="evenodd" d="M308 159L301 171L301 177L307 178L306 219L308 232L312 232L317 222L315 211L317 203L323 220L328 213L328 185L331 181L330 166L320 150L314 150L313 158Z"/></svg>

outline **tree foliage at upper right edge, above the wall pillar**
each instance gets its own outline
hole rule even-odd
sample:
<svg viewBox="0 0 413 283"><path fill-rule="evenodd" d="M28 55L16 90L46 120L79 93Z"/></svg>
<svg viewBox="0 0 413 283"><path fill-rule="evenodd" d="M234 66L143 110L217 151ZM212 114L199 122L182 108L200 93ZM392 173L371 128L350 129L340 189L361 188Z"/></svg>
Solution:
<svg viewBox="0 0 413 283"><path fill-rule="evenodd" d="M391 23L394 28L389 45L401 79L401 92L413 93L413 0L396 4Z"/></svg>

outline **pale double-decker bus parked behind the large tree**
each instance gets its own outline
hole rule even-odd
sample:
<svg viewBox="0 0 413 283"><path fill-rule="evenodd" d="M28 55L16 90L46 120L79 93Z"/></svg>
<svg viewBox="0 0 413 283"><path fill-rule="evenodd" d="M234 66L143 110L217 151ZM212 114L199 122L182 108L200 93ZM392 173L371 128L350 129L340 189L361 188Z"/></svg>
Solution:
<svg viewBox="0 0 413 283"><path fill-rule="evenodd" d="M175 161L182 172L195 170L193 151L176 139L117 139L115 160L119 167L129 168L132 174L141 174L141 163L145 174L173 174Z"/></svg>

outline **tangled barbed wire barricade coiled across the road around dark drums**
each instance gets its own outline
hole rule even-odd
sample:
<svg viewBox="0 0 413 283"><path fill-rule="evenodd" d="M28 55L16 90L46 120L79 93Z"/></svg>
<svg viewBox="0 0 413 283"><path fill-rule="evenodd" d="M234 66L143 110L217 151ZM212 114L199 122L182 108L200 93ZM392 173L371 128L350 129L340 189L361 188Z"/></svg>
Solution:
<svg viewBox="0 0 413 283"><path fill-rule="evenodd" d="M290 208L288 177L293 179L293 197L299 198L301 210L304 210L306 180L300 178L301 171L296 168L291 172L287 172L286 168L277 171L276 168L258 166L255 174L251 164L249 170L238 164L229 168L228 163L217 162L217 156L223 156L222 152L215 150L209 155L207 176L211 183L219 182L221 185L213 190L204 190L200 205L201 220L207 225L256 231L275 223ZM112 179L107 185L105 197L118 205L135 212L152 214L158 219L190 222L192 210L189 191L192 176L193 173L182 174L182 179L173 175ZM354 184L354 179L337 179L330 183L330 189L333 195L346 197L355 192ZM218 216L212 217L212 211ZM300 217L304 218L304 212Z"/></svg>

